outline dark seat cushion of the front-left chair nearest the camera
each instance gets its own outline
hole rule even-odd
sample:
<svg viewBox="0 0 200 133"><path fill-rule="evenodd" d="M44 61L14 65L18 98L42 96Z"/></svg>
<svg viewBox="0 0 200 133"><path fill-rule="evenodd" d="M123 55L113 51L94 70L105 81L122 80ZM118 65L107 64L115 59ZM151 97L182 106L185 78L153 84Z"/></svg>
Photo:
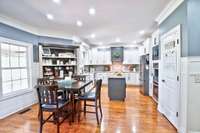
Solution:
<svg viewBox="0 0 200 133"><path fill-rule="evenodd" d="M69 103L68 100L58 100L58 109L63 108L68 103ZM56 104L54 104L54 103L53 104L42 104L42 109L48 110L48 111L50 111L50 110L54 111L57 109L57 107L56 107Z"/></svg>

